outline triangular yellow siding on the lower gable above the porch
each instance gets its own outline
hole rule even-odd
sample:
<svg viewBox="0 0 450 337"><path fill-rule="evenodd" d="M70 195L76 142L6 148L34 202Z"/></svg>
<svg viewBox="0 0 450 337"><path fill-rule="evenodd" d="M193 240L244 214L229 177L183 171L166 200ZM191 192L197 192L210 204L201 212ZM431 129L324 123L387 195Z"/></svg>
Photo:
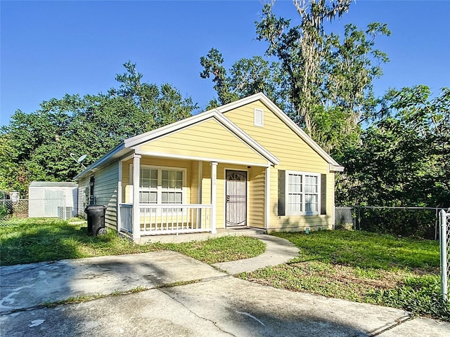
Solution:
<svg viewBox="0 0 450 337"><path fill-rule="evenodd" d="M188 157L233 160L266 164L260 154L221 126L215 119L208 119L141 145L141 152L157 152Z"/></svg>

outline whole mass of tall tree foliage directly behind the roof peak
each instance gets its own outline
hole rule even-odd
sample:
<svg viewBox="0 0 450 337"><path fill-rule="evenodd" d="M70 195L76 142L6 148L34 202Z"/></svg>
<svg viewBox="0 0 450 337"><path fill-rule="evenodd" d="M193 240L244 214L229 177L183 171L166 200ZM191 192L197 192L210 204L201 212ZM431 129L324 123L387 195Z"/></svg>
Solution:
<svg viewBox="0 0 450 337"><path fill-rule="evenodd" d="M309 133L325 150L340 154L358 143L360 124L375 114L379 100L373 79L383 74L387 55L375 48L375 39L389 36L387 25L373 22L366 30L345 26L341 37L326 32L324 21L340 18L350 0L294 1L300 24L274 14L275 1L264 4L255 22L257 39L268 44L265 56L242 58L229 72L224 58L212 48L200 58L200 77L212 76L217 107L263 92Z"/></svg>

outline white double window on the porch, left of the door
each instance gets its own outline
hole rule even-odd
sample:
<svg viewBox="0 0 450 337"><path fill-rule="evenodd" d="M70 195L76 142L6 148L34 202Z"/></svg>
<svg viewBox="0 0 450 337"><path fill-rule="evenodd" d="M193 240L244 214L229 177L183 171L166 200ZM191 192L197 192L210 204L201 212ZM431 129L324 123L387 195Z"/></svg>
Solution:
<svg viewBox="0 0 450 337"><path fill-rule="evenodd" d="M140 176L140 204L183 204L183 170L141 167Z"/></svg>

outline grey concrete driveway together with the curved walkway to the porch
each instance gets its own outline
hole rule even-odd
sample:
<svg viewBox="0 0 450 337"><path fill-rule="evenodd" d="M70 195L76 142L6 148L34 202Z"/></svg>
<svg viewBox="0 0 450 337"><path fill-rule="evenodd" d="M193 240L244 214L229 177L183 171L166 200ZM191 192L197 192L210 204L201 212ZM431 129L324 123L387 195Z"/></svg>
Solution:
<svg viewBox="0 0 450 337"><path fill-rule="evenodd" d="M234 274L297 256L283 239L257 237L263 256L214 267L172 251L0 267L0 336L450 336L447 322L217 270ZM42 305L98 294L115 296Z"/></svg>

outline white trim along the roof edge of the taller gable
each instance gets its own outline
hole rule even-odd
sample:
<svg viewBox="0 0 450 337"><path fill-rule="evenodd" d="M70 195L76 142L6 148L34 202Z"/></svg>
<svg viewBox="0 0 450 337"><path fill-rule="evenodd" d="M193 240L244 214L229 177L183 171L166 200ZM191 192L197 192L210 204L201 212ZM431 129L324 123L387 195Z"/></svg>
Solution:
<svg viewBox="0 0 450 337"><path fill-rule="evenodd" d="M269 98L267 98L264 93L255 93L255 95L248 96L246 98L242 98L240 100L236 100L235 102L222 105L221 107L215 108L222 114L228 112L230 110L237 109L238 107L242 107L243 105L248 105L250 103L254 103L257 100L260 100L264 105L269 107L269 109L274 112L276 117L281 119L292 131L294 131L297 136L299 136L304 143L307 143L314 151L317 152L323 159L325 159L328 164L330 164L330 171L344 171L344 166L338 164L333 157L330 156L325 150L323 150L319 144L317 144L311 137L307 135L297 124L295 124L292 119L288 117L287 114L283 112L274 102L272 102Z"/></svg>

